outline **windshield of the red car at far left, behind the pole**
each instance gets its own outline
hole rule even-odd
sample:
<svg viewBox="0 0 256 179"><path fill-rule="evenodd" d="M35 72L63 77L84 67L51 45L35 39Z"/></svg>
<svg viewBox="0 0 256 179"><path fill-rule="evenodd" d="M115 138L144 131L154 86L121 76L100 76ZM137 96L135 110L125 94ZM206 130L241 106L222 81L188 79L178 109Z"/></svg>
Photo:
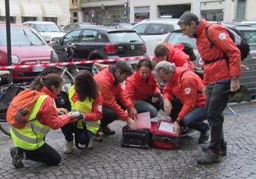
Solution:
<svg viewBox="0 0 256 179"><path fill-rule="evenodd" d="M10 29L12 46L42 46L45 42L35 30L11 28ZM0 45L7 45L6 29L0 30Z"/></svg>

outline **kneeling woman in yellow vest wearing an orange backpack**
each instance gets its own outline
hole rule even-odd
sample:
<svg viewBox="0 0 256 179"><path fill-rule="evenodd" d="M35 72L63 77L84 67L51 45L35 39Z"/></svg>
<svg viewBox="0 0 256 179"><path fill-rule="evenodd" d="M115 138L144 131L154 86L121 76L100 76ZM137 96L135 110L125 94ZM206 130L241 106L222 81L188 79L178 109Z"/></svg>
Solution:
<svg viewBox="0 0 256 179"><path fill-rule="evenodd" d="M36 78L30 89L25 89L13 98L7 110L7 121L15 147L10 149L13 166L24 167L22 160L30 159L48 166L58 165L61 156L45 143L50 129L59 129L65 124L77 121L76 114L58 116L53 98L62 89L62 78L56 74Z"/></svg>

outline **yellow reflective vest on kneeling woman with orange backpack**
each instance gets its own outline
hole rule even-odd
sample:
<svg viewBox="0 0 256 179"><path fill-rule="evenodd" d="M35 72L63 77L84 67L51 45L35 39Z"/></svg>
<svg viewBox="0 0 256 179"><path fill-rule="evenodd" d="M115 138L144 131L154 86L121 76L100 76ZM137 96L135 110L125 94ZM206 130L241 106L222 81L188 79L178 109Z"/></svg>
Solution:
<svg viewBox="0 0 256 179"><path fill-rule="evenodd" d="M22 149L35 150L45 143L44 138L47 132L50 131L50 127L39 123L35 118L46 98L47 95L41 95L37 99L36 104L30 112L30 122L26 126L22 129L16 129L11 126L10 134L15 146L19 146Z"/></svg>

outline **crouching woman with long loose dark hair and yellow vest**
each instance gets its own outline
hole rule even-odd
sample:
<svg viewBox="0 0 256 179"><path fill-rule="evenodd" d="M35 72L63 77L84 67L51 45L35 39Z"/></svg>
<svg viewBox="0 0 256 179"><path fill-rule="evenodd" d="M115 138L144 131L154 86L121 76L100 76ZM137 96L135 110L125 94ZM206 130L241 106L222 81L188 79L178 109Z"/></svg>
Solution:
<svg viewBox="0 0 256 179"><path fill-rule="evenodd" d="M62 127L66 140L64 149L66 154L73 151L73 134L76 148L85 149L91 147L92 138L99 131L102 118L102 95L90 72L81 70L77 73L74 86L69 90L69 100L71 110L81 112L83 118Z"/></svg>

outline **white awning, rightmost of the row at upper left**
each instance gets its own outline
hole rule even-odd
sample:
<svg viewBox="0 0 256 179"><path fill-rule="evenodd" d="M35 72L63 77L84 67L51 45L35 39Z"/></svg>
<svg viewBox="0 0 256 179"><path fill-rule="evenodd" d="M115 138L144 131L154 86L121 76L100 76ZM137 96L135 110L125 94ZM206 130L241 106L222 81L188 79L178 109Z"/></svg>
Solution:
<svg viewBox="0 0 256 179"><path fill-rule="evenodd" d="M64 16L62 8L59 4L43 3L42 4L43 17L60 17Z"/></svg>

